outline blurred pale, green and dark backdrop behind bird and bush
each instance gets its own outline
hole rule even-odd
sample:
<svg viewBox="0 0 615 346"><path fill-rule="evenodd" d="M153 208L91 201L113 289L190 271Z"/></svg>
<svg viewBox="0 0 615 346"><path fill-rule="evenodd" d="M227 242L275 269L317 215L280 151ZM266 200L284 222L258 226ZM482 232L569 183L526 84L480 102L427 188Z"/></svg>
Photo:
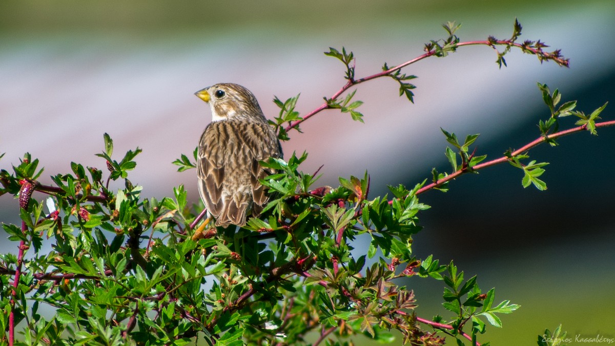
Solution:
<svg viewBox="0 0 615 346"><path fill-rule="evenodd" d="M211 119L195 91L242 84L269 118L279 111L274 95L301 93L297 110L305 114L344 84L343 65L322 54L328 47L352 50L362 77L423 54L424 42L445 37L446 21L462 23L461 41L475 41L509 38L515 17L520 40L561 49L570 68L513 50L499 69L489 47L463 47L403 70L418 76L414 104L398 97L392 79L376 79L357 88L365 124L325 111L282 144L287 156L309 152L303 171L324 165L319 185L367 169L372 198L387 185L413 187L432 167L450 171L440 127L461 138L480 133L477 154L488 158L538 137L536 124L549 110L536 82L559 88L563 101L579 100L586 113L614 101L615 2L2 1L0 169L26 151L46 168L42 183L69 172L71 161L104 168L94 154L108 132L116 159L143 149L131 181L144 196L170 196L185 184L196 202L196 172L171 164L191 156ZM603 118L613 119L612 107ZM551 163L541 177L547 191L522 188L522 172L503 164L460 177L448 193L421 195L432 209L421 215L415 254L454 259L485 291L496 287L497 302L522 305L502 316L504 328L488 328L494 345L536 344L560 323L573 338L615 337L615 129L598 134L531 151ZM17 222L17 214L17 201L2 196L0 221ZM13 247L0 242L1 251ZM419 316L448 318L442 282L405 284L415 289Z"/></svg>

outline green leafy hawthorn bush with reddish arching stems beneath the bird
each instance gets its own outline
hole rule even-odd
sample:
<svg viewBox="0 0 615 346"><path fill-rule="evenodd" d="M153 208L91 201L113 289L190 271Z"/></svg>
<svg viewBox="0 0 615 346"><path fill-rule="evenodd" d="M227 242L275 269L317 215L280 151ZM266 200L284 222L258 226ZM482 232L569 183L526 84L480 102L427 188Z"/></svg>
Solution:
<svg viewBox="0 0 615 346"><path fill-rule="evenodd" d="M326 55L344 64L338 92L306 115L295 111L297 97L282 101L271 121L280 140L289 140L303 121L323 110L338 109L362 121L350 89L371 79L399 83L400 96L413 102L413 75L402 68L428 57L445 57L460 47L493 48L496 62L512 49L541 62L568 66L559 50L547 52L541 41L517 42L515 22L510 39L461 42L459 25L443 25L447 36L430 41L425 53L400 65L356 78L354 55L330 48ZM519 308L496 299L495 289L478 286L453 262L441 264L413 255L412 236L421 230L419 212L429 208L418 196L446 191L451 179L494 164L509 163L523 171L523 187L546 188L539 179L547 163L530 161L528 151L574 132L596 134L605 106L589 115L576 102L561 102L556 89L538 85L547 105L546 119L533 142L486 161L471 148L478 135L465 139L442 130L449 146L450 172L432 170L432 178L413 187L389 187L391 195L370 196L370 178L339 178L339 187L320 187L317 176L301 172L307 154L287 161L271 159L277 174L263 183L271 201L259 219L243 228L206 228L202 204L189 206L185 187L171 197L142 198L129 173L140 149L121 158L105 134L97 154L106 169L71 163L71 172L40 179L38 159L26 153L12 170L0 171L0 195L18 199L21 225L3 223L17 253L0 254L0 336L9 345L350 345L365 335L392 342L392 329L404 344L486 345L488 325L501 327L501 315ZM547 109L546 109L547 110ZM560 130L562 118L576 119ZM196 155L196 151L194 152ZM0 156L1 157L1 156ZM190 171L194 161L181 155L174 164ZM33 194L37 191L36 194ZM369 237L367 251L354 249L358 236ZM48 244L51 251L42 252ZM355 250L354 252L351 252ZM359 255L355 255L355 254ZM26 256L27 255L27 256ZM371 264L368 264L371 263ZM397 278L417 276L443 283L443 306L449 316L425 318L414 312L411 288ZM47 307L47 313L42 306ZM560 328L545 332L538 344L561 337ZM565 336L565 333L563 334ZM456 341L453 341L456 340Z"/></svg>

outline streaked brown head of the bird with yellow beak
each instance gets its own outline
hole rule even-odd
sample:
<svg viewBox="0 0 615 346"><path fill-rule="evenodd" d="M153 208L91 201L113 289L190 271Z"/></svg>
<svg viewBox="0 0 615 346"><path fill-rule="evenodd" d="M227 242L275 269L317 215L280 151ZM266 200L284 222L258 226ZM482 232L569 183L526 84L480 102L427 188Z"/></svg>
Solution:
<svg viewBox="0 0 615 346"><path fill-rule="evenodd" d="M194 93L212 108L212 121L226 119L264 119L256 97L239 84L220 83Z"/></svg>

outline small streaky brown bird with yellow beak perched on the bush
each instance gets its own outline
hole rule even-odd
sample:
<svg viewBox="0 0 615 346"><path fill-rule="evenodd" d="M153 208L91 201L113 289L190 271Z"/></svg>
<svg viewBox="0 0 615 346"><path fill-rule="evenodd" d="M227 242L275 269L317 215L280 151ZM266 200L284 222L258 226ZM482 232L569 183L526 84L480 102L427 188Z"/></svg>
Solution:
<svg viewBox="0 0 615 346"><path fill-rule="evenodd" d="M216 226L244 226L247 211L260 214L269 199L258 180L274 171L258 161L281 158L282 147L245 87L221 83L194 94L212 108L197 155L200 198Z"/></svg>

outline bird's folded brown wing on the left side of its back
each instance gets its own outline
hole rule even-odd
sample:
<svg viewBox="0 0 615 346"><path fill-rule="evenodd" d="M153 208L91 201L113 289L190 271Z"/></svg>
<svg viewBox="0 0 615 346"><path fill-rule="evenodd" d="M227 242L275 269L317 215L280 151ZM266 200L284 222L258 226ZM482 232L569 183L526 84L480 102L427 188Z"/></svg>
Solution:
<svg viewBox="0 0 615 346"><path fill-rule="evenodd" d="M224 148L220 145L219 129L221 122L205 127L200 137L197 155L197 176L199 194L207 210L213 217L222 211L222 183L224 180Z"/></svg>

